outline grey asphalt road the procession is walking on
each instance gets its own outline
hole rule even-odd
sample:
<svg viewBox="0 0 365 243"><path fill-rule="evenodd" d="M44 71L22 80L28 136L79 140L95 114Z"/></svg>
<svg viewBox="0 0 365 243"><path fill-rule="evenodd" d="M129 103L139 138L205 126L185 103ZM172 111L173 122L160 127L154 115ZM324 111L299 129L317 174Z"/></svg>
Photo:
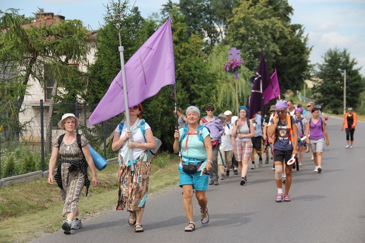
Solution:
<svg viewBox="0 0 365 243"><path fill-rule="evenodd" d="M201 226L194 198L194 232L183 231L187 219L182 189L176 188L148 198L144 233L128 226L126 211L112 211L85 221L71 235L60 230L33 242L365 242L365 122L357 125L353 149L345 149L341 122L328 121L330 144L323 155L323 172L313 173L310 154L305 154L300 171L294 171L292 202L274 201L271 160L249 170L247 185L240 186L239 175L233 175L219 186L209 186L208 226Z"/></svg>

